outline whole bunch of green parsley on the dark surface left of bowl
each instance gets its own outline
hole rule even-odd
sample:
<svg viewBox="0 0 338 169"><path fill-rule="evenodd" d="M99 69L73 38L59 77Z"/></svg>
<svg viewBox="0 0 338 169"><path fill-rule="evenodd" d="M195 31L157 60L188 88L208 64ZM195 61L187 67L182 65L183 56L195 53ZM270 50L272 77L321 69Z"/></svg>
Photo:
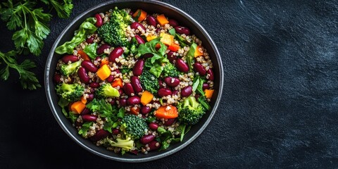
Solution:
<svg viewBox="0 0 338 169"><path fill-rule="evenodd" d="M73 9L71 0L63 0L63 4L55 0L42 0L45 4L51 4L59 13L67 13L67 15L60 14L61 18L69 17ZM15 3L16 2L16 3ZM18 64L16 61L16 54L34 54L39 56L44 46L43 40L49 35L50 30L48 23L52 15L44 13L42 8L36 8L35 1L14 1L8 0L0 6L1 20L6 23L8 30L14 30L13 43L15 44L15 51L9 51L4 54L0 52L0 64L4 63L4 68L0 70L0 76L3 80L8 80L9 70L13 68L18 71L20 83L23 89L37 89L41 87L35 73L30 71L35 68L35 63L26 59L23 63Z"/></svg>

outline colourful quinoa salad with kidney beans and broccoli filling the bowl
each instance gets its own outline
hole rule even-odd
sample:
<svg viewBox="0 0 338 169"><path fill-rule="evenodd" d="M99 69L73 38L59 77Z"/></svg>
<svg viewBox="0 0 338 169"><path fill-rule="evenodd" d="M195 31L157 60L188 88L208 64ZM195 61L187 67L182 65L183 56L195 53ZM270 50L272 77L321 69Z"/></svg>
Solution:
<svg viewBox="0 0 338 169"><path fill-rule="evenodd" d="M201 40L180 24L115 7L56 48L58 105L78 134L122 155L184 140L210 109L214 75Z"/></svg>

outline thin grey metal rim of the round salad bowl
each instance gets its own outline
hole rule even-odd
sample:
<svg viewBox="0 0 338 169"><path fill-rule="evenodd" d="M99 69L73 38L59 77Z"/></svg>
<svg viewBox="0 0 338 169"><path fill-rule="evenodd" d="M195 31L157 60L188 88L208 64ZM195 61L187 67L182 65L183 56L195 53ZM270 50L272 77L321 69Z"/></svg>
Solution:
<svg viewBox="0 0 338 169"><path fill-rule="evenodd" d="M56 103L52 103L52 96L51 96L51 87L50 87L50 83L49 83L49 72L51 69L51 61L53 60L53 56L54 56L54 51L56 49L56 45L61 41L61 38L63 37L63 35L65 35L65 32L67 32L70 27L72 27L72 25L74 25L77 20L80 20L80 18L83 18L84 15L87 15L87 13L90 13L98 8L102 8L104 6L108 6L111 4L115 4L118 2L143 2L143 3L149 3L149 4L155 4L155 5L159 5L159 6L165 6L167 8L172 8L174 9L177 13L180 13L181 15L183 15L185 18L187 18L188 20L192 21L192 23L194 24L194 26L196 26L199 30L201 30L201 32L204 33L206 39L208 40L208 43L211 44L211 47L213 48L213 51L215 52L215 57L218 61L218 67L220 70L220 87L219 87L219 92L218 92L218 96L216 98L215 101L215 106L213 106L213 109L211 110L210 115L208 116L208 119L206 119L206 122L199 128L199 130L194 133L192 135L191 138L187 139L187 141L183 142L180 146L177 146L175 149L172 150L168 150L168 151L163 151L162 154L158 154L156 156L150 156L150 157L144 157L144 158L123 158L123 156L121 157L115 157L115 156L108 156L106 154L102 154L99 151L95 151L94 149L91 149L89 146L87 146L86 144L84 144L80 139L77 139L73 134L71 134L71 132L68 130L68 127L63 123L63 121L61 120L61 118L59 117L56 108L54 106L54 104ZM180 8L177 8L171 4L167 4L164 3L162 1L156 1L156 0L125 0L125 1L105 1L102 2L100 4L97 4L96 6L92 6L90 8L87 8L87 10L85 10L84 12L80 13L79 15L75 16L75 18L63 29L63 31L60 33L60 35L58 35L57 39L55 40L53 46L51 47L51 51L49 52L48 58L46 60L46 65L45 65L45 70L44 70L44 86L45 86L45 92L46 92L46 97L47 97L47 101L49 104L49 107L51 108L51 111L54 115L54 118L56 118L56 121L58 122L58 125L61 126L61 128L63 129L63 131L68 134L68 136L73 139L73 141L75 141L77 144L79 144L80 146L82 146L84 149L87 149L87 151L92 152L93 154L96 154L97 156L101 156L104 158L108 158L114 161L120 161L120 162L130 162L130 163L139 163L139 162L146 162L146 161L155 161L158 160L160 158L164 158L165 156L170 156L172 154L175 154L177 151L180 151L181 149L184 149L184 147L186 147L187 145L191 144L197 137L199 137L199 135L206 129L207 125L210 123L211 119L213 118L213 115L215 114L215 111L218 108L218 104L220 103L220 99L223 93L223 81L224 81L224 77L223 77L223 63L221 61L220 58L220 53L217 49L217 46L215 45L215 42L213 42L213 39L210 37L210 35L208 34L208 32L204 29L204 27L201 26L201 24L199 24L194 18L192 18L192 16L190 16L189 14L185 13L184 11L182 11Z"/></svg>

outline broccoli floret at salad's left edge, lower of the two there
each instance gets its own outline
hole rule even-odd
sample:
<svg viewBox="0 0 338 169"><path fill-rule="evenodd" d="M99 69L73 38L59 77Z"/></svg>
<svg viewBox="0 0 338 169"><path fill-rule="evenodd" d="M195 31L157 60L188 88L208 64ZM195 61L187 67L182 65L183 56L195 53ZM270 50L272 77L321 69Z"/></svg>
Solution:
<svg viewBox="0 0 338 169"><path fill-rule="evenodd" d="M84 93L84 87L80 84L61 84L56 86L56 94L67 101L77 101Z"/></svg>

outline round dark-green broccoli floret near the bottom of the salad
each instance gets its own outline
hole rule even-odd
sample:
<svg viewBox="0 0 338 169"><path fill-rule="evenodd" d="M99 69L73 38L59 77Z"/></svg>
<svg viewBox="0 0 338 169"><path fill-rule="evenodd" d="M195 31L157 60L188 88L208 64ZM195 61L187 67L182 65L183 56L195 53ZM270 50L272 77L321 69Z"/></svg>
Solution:
<svg viewBox="0 0 338 169"><path fill-rule="evenodd" d="M120 130L125 134L126 138L141 138L146 132L147 127L146 120L137 115L125 115L120 122Z"/></svg>

